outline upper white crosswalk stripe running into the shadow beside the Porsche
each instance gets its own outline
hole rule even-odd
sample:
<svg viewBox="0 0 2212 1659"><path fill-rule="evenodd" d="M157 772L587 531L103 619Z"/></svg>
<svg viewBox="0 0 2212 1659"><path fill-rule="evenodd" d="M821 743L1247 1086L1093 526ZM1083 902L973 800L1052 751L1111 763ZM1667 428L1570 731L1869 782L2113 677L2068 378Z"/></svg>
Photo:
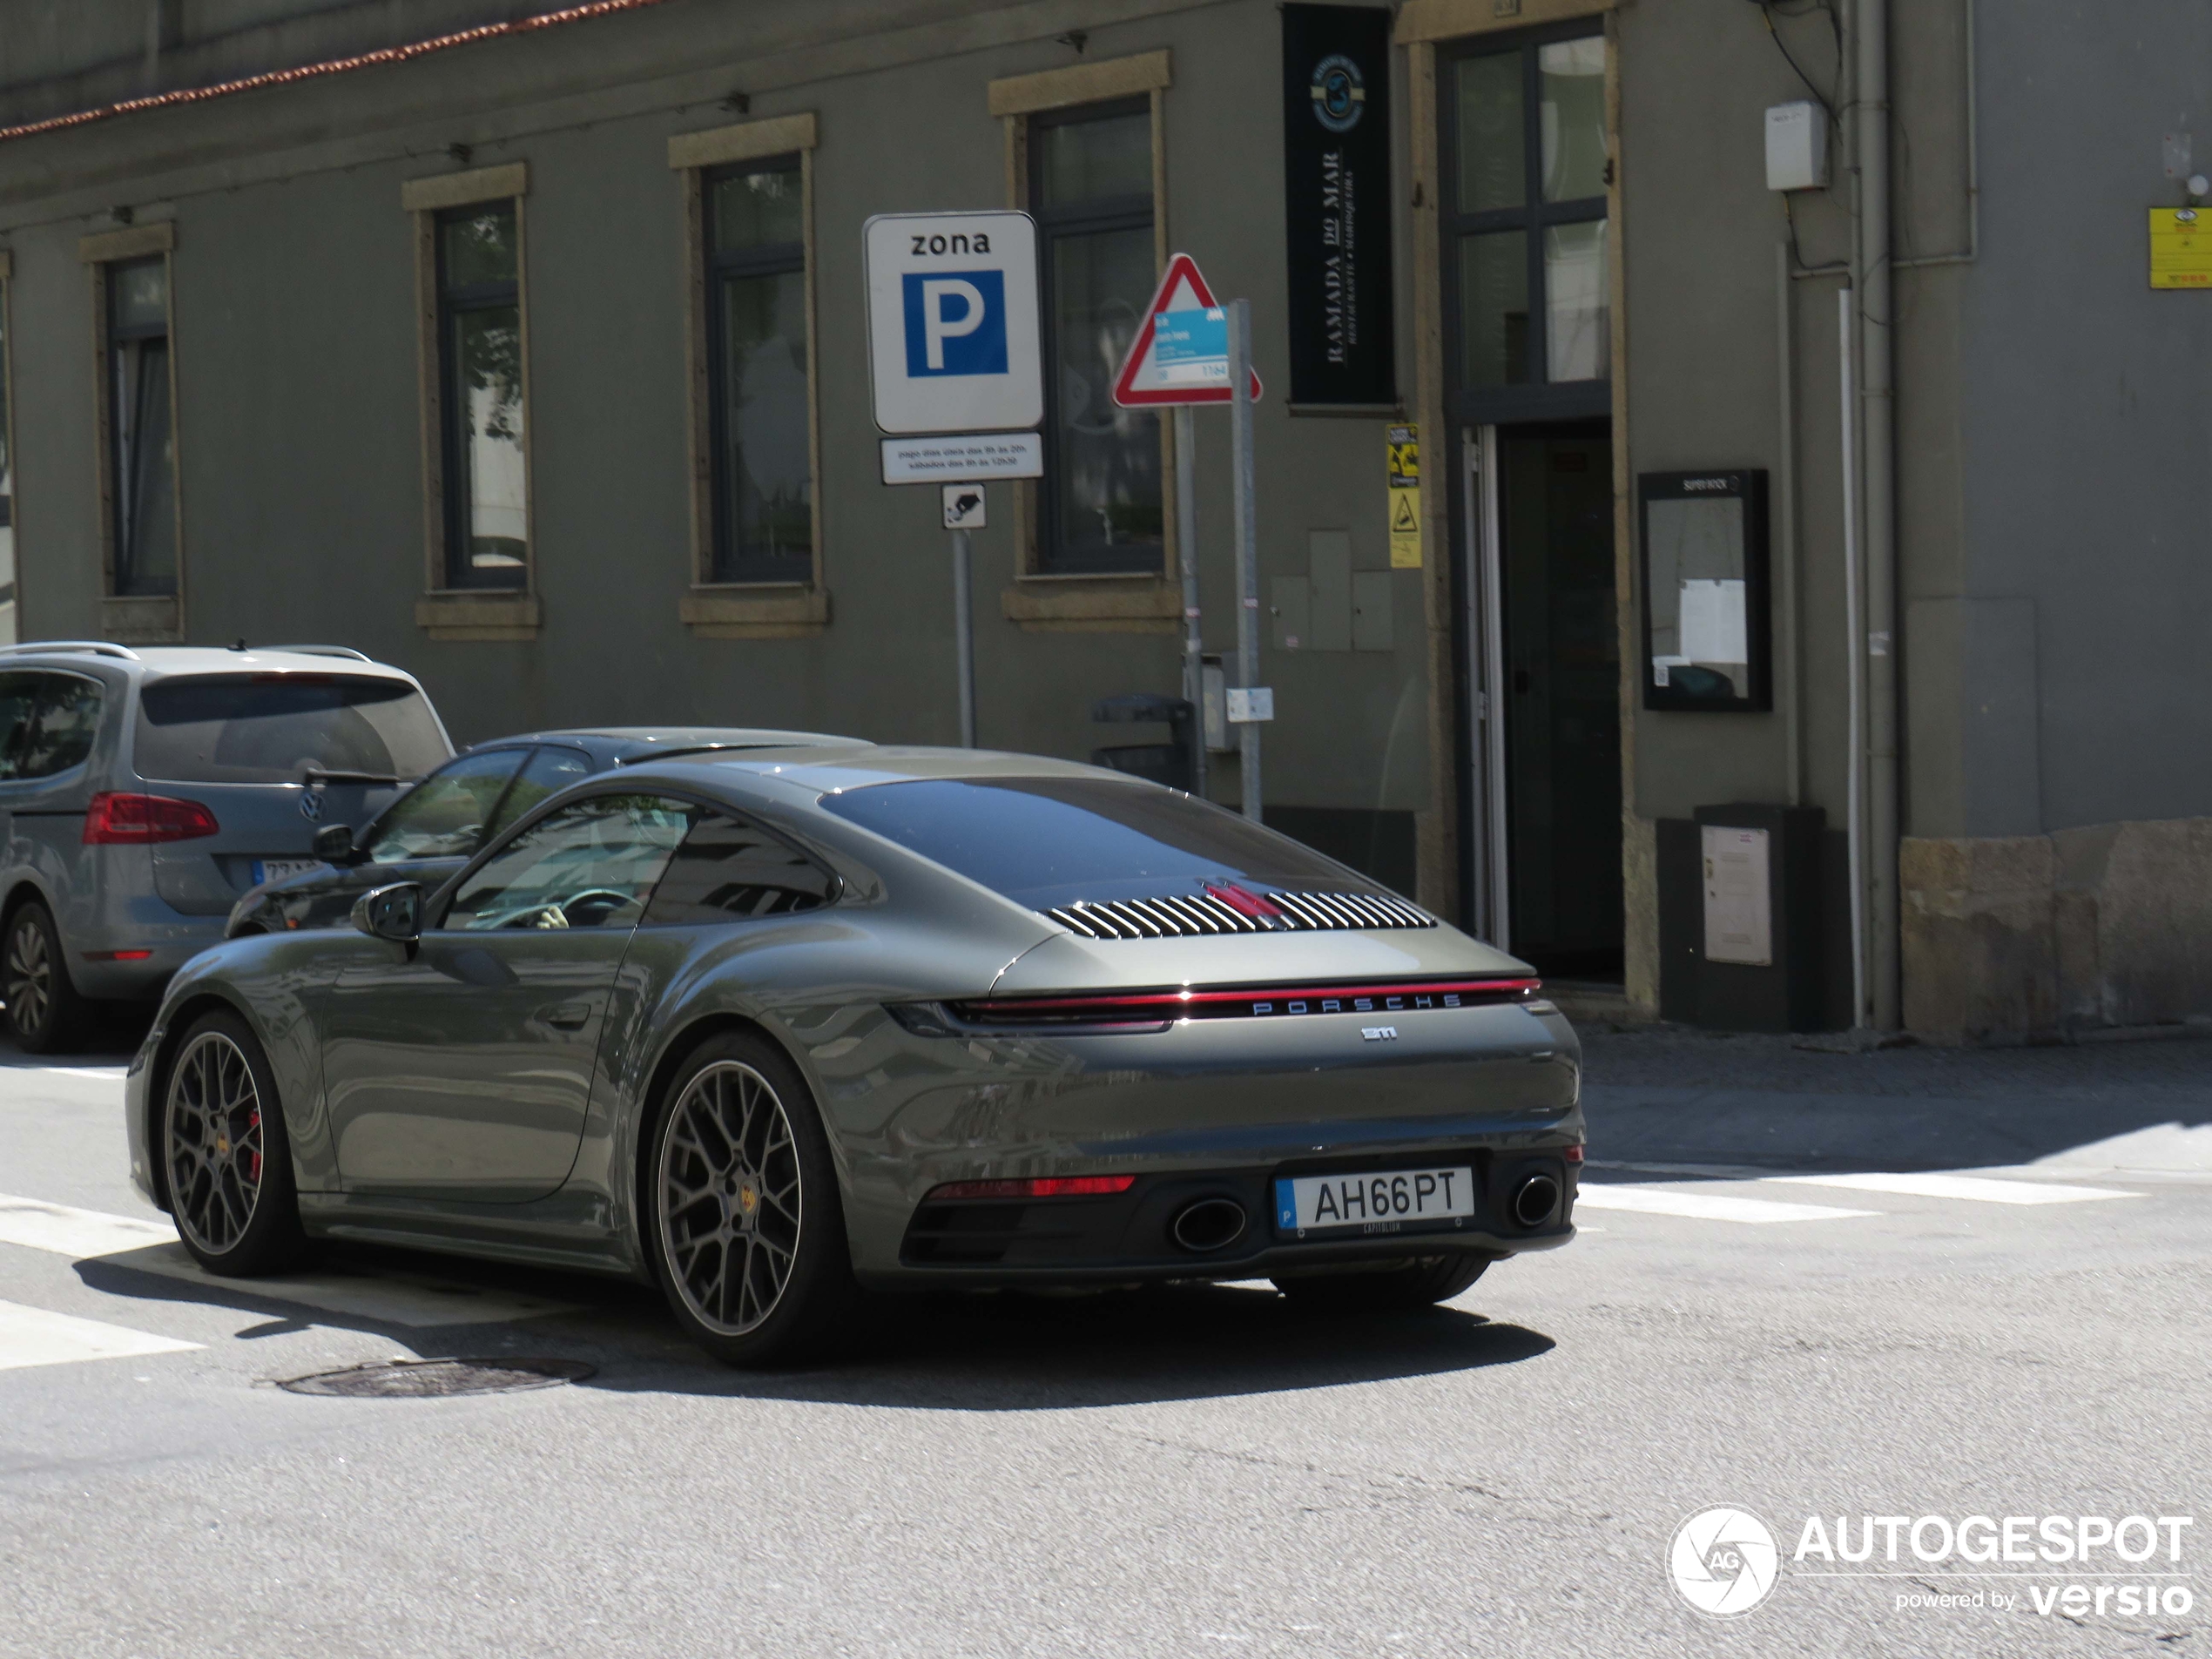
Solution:
<svg viewBox="0 0 2212 1659"><path fill-rule="evenodd" d="M166 1217L144 1221L4 1192L0 1192L0 1243L51 1250L71 1261L106 1261L210 1290L221 1285L380 1325L504 1325L575 1307L427 1274L301 1272L281 1279L212 1279L177 1241L177 1228Z"/></svg>

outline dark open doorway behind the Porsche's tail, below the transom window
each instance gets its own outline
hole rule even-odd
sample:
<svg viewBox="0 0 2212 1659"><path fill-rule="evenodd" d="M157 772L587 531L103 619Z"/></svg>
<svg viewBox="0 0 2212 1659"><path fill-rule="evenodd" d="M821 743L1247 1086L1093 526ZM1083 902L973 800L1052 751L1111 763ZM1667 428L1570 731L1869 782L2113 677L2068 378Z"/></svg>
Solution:
<svg viewBox="0 0 2212 1659"><path fill-rule="evenodd" d="M1606 420L1462 434L1464 889L1551 978L1621 978L1621 664Z"/></svg>

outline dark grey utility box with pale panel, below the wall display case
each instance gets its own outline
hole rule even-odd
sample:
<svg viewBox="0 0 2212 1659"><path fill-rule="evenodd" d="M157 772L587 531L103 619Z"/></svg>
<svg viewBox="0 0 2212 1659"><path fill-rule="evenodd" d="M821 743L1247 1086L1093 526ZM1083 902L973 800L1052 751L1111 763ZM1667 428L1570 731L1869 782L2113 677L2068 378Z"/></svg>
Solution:
<svg viewBox="0 0 2212 1659"><path fill-rule="evenodd" d="M1659 1018L1820 1031L1820 807L1697 807L1659 821Z"/></svg>

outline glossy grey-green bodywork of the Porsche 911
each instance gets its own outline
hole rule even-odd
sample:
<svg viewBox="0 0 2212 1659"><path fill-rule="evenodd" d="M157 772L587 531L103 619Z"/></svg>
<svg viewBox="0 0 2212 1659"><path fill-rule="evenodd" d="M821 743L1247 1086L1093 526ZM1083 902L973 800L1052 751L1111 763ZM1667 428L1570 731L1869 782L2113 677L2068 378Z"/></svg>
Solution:
<svg viewBox="0 0 2212 1659"><path fill-rule="evenodd" d="M1270 1181L1285 1172L1467 1166L1484 1208L1449 1234L1420 1234L1422 1248L1511 1254L1573 1237L1579 1048L1548 1002L1517 989L1531 982L1524 964L1433 920L1077 938L825 810L841 790L918 779L1155 787L1033 757L865 745L661 759L591 779L447 880L416 945L285 931L195 960L131 1068L139 1186L164 1201L146 1148L170 1037L221 1000L270 1048L314 1234L646 1276L639 1164L659 1086L706 1033L743 1024L805 1075L852 1261L874 1285L1256 1276L1411 1248L1396 1223L1327 1239L1267 1225ZM615 790L759 825L830 874L832 902L677 922L648 907L622 927L568 931L438 927L440 905L502 847ZM1407 989L1447 982L1515 989L1451 1004ZM1022 998L1181 989L1237 995L1206 1018L1110 1026L1004 1011ZM1568 1199L1544 1225L1515 1228L1500 1194L1537 1166ZM995 1256L929 1232L940 1212L953 1232L973 1219L929 1199L942 1183L1062 1175L1135 1183L1104 1203L1029 1206L1037 1214L1015 1217L989 1245ZM1192 1259L1161 1217L1203 1192L1234 1194L1254 1223Z"/></svg>

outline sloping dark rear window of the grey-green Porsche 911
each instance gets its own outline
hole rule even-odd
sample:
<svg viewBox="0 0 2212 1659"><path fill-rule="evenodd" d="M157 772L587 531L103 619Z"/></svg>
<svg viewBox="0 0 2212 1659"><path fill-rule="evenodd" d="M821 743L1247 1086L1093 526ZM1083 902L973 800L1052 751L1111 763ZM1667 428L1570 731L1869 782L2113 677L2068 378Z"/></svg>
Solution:
<svg viewBox="0 0 2212 1659"><path fill-rule="evenodd" d="M1146 783L916 779L827 794L823 807L1031 909L1210 880L1383 891L1290 836Z"/></svg>

